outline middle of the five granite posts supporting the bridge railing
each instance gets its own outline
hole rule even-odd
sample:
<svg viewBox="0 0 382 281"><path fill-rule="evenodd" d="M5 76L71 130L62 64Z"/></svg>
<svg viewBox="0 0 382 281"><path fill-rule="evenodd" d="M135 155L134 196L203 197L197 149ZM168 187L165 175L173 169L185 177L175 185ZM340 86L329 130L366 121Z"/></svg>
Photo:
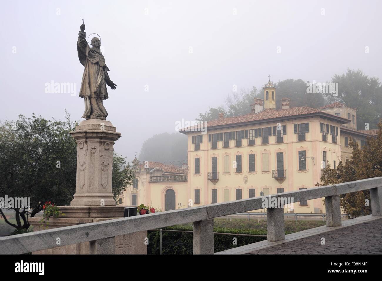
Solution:
<svg viewBox="0 0 382 281"><path fill-rule="evenodd" d="M267 208L267 237L271 242L285 239L284 208Z"/></svg>

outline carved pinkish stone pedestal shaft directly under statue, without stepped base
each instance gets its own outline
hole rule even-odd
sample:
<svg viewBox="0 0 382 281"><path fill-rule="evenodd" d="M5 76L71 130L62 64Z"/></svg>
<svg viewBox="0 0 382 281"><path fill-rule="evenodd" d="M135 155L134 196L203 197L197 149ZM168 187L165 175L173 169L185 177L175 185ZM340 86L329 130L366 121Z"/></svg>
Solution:
<svg viewBox="0 0 382 281"><path fill-rule="evenodd" d="M113 145L121 137L110 121L84 120L70 132L77 143L76 193L71 206L114 206Z"/></svg>

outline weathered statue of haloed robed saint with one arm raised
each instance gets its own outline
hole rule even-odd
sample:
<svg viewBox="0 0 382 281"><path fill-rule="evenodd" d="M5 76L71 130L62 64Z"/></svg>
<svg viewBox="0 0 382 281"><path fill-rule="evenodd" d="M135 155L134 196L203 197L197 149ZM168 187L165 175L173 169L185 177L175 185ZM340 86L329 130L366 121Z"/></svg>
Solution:
<svg viewBox="0 0 382 281"><path fill-rule="evenodd" d="M100 39L94 37L91 40L92 47L87 44L85 24L81 24L81 31L78 33L77 51L81 64L85 67L82 76L81 89L79 96L84 98L85 111L82 118L106 120L107 111L103 101L109 96L106 84L115 89L116 84L110 80L105 65L105 58L100 50Z"/></svg>

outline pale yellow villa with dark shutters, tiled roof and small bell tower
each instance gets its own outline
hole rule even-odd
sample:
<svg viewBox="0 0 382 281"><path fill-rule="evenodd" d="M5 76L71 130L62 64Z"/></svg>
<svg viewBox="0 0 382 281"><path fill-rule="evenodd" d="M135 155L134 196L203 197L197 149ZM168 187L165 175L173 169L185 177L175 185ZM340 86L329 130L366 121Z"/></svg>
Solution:
<svg viewBox="0 0 382 281"><path fill-rule="evenodd" d="M375 130L356 130L356 109L335 102L314 109L289 108L281 99L276 109L276 88L269 81L264 100L255 98L251 113L183 128L188 136L188 169L170 172L154 162L137 171L136 190L126 190L123 205L149 204L162 210L258 197L314 187L329 162L336 167L341 156L349 157L348 143L360 146ZM349 116L350 114L350 116ZM160 170L160 171L159 171ZM179 169L178 169L179 170ZM161 178L155 178L155 171ZM183 181L180 181L182 177ZM158 180L160 179L160 180ZM136 197L133 197L136 194ZM133 198L138 198L134 201ZM324 213L323 198L294 203L285 212Z"/></svg>

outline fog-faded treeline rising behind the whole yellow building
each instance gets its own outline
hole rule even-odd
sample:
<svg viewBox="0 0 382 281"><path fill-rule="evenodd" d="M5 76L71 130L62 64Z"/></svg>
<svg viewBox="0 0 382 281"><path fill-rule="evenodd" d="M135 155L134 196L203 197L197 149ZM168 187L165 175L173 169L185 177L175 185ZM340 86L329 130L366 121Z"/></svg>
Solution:
<svg viewBox="0 0 382 281"><path fill-rule="evenodd" d="M319 108L333 102L342 102L347 106L357 108L358 130L365 129L369 123L370 129L377 128L382 115L382 88L378 77L369 77L361 70L348 69L345 73L335 74L332 81L338 83L338 96L330 93L307 93L307 83L301 79L286 79L274 83L276 90L276 106L281 109L280 99L290 98L290 107L308 106ZM210 121L219 118L222 112L225 117L240 116L251 113L250 104L253 98L264 99L262 89L240 89L228 94L220 104L212 105L205 113L199 113L196 120ZM180 133L162 133L146 140L139 154L140 161L172 162L182 161L187 157L187 138Z"/></svg>

